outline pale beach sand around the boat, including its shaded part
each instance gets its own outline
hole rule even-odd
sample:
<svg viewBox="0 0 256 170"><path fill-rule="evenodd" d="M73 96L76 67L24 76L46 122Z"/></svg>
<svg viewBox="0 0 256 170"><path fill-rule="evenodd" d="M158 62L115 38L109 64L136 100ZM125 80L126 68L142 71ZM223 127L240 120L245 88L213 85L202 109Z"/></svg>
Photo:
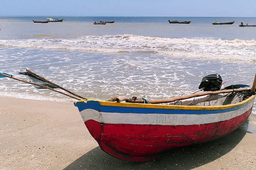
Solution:
<svg viewBox="0 0 256 170"><path fill-rule="evenodd" d="M255 126L248 123L218 140L137 163L101 151L71 102L0 97L0 103L0 170L256 169Z"/></svg>

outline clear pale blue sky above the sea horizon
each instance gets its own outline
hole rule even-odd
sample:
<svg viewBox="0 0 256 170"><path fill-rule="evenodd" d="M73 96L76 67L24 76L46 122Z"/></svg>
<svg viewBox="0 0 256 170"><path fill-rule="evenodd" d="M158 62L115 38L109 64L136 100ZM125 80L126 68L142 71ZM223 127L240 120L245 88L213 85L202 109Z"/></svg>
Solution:
<svg viewBox="0 0 256 170"><path fill-rule="evenodd" d="M0 15L256 17L256 0L0 0Z"/></svg>

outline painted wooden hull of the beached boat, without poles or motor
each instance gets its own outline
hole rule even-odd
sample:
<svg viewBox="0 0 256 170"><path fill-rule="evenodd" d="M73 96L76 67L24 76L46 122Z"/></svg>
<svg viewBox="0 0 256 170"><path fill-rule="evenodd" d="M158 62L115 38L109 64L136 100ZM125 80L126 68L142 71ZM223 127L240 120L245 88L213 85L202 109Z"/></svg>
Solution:
<svg viewBox="0 0 256 170"><path fill-rule="evenodd" d="M167 150L231 133L251 114L254 99L254 94L244 100L238 95L229 105L222 105L225 98L220 98L196 106L100 100L74 104L103 151L127 161L149 161Z"/></svg>

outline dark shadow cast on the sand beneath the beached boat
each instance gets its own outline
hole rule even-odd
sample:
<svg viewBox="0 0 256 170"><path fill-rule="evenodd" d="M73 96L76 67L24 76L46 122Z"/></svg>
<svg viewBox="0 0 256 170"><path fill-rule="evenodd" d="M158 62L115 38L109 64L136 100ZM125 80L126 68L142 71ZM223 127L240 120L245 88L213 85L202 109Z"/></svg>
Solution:
<svg viewBox="0 0 256 170"><path fill-rule="evenodd" d="M96 147L74 162L68 169L193 169L212 162L230 152L247 133L248 123L220 139L177 148L149 162L128 162L116 159Z"/></svg>

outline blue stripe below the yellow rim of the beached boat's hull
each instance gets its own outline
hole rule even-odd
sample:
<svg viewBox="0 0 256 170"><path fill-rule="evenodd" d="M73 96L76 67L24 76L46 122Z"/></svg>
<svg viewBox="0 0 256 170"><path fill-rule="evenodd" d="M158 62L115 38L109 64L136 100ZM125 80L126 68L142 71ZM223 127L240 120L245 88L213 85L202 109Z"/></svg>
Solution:
<svg viewBox="0 0 256 170"><path fill-rule="evenodd" d="M252 100L253 101L253 100ZM116 106L101 106L99 101L87 101L77 102L76 105L81 112L84 109L94 109L99 112L109 112L109 113L156 113L156 114L215 114L224 113L242 108L252 101L245 103L244 105L221 109L221 110L179 110L179 109L159 109L159 108L141 108L141 107L116 107Z"/></svg>

